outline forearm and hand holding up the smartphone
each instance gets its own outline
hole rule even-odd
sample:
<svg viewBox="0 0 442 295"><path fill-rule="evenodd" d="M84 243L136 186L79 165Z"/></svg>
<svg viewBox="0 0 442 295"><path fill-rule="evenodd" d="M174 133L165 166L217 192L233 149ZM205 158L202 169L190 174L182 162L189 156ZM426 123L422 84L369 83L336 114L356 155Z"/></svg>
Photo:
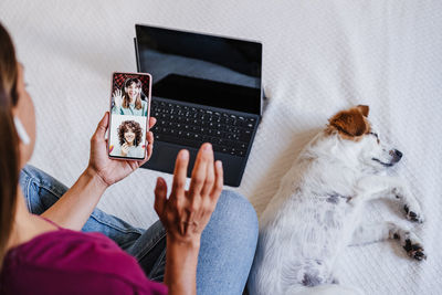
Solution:
<svg viewBox="0 0 442 295"><path fill-rule="evenodd" d="M105 139L109 122L108 116L109 114L106 112L91 138L91 156L86 170L80 176L74 186L42 214L63 228L80 231L106 188L144 165L152 152L154 134L148 133L146 138L149 145L146 149L147 157L144 161L109 159L107 139ZM150 127L155 123L156 119L150 118Z"/></svg>

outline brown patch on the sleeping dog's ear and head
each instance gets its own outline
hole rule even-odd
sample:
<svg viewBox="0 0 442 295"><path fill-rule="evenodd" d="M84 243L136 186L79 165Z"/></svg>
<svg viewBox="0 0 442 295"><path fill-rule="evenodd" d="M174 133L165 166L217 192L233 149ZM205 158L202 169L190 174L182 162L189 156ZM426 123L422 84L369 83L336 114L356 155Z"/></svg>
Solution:
<svg viewBox="0 0 442 295"><path fill-rule="evenodd" d="M368 113L369 107L366 105L341 110L328 119L326 134L338 133L343 139L358 141L365 134L370 133L370 124L367 120Z"/></svg>

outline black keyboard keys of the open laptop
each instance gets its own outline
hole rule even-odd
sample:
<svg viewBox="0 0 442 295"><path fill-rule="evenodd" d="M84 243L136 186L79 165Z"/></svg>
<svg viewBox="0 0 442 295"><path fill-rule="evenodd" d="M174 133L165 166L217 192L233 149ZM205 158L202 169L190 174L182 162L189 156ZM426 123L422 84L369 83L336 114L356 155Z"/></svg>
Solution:
<svg viewBox="0 0 442 295"><path fill-rule="evenodd" d="M244 157L256 124L252 116L213 112L169 102L151 101L150 115L156 140L199 148L211 143L213 150Z"/></svg>

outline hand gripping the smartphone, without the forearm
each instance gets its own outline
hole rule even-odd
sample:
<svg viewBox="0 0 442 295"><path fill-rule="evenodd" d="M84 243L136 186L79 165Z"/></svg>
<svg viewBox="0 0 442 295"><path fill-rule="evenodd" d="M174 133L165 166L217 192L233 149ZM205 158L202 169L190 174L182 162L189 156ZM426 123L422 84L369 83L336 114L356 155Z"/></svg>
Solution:
<svg viewBox="0 0 442 295"><path fill-rule="evenodd" d="M150 117L149 119L149 129L154 127L156 118ZM118 182L123 178L130 175L133 171L138 169L138 167L143 166L147 162L152 154L154 149L154 134L148 131L146 134L147 147L146 159L141 161L136 160L114 160L110 159L107 155L107 140L105 139L105 134L107 131L109 125L109 113L106 112L102 120L98 123L98 126L91 138L91 157L90 164L87 166L87 170L92 173L96 173L106 186L114 185Z"/></svg>

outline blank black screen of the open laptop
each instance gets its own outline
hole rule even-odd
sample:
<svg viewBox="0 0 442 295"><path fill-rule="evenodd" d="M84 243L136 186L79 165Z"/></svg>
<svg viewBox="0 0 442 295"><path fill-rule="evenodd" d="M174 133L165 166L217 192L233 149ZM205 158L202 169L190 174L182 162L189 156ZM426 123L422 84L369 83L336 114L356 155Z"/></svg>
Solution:
<svg viewBox="0 0 442 295"><path fill-rule="evenodd" d="M152 96L260 115L262 44L136 25Z"/></svg>

